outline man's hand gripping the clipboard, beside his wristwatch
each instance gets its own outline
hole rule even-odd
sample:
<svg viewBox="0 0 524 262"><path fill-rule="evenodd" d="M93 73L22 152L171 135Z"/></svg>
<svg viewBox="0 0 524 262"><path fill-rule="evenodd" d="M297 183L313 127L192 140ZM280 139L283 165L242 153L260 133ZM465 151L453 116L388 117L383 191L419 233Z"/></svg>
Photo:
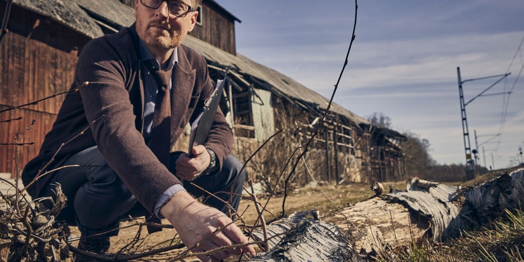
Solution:
<svg viewBox="0 0 524 262"><path fill-rule="evenodd" d="M185 181L193 181L209 166L211 157L204 146L195 146L192 149L193 157L181 154L177 159L177 177Z"/></svg>

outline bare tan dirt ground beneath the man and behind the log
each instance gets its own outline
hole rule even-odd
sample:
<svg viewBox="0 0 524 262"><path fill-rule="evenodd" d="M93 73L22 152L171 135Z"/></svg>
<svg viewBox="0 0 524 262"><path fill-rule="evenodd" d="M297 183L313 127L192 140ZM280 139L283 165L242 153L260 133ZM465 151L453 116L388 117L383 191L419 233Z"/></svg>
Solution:
<svg viewBox="0 0 524 262"><path fill-rule="evenodd" d="M388 188L388 184L385 184L385 187ZM395 188L405 187L405 183L395 183ZM335 206L331 201L327 200L324 196L324 193L329 196L329 199L336 204L340 209L344 208L347 205L355 204L356 202L362 201L369 196L374 194L373 191L369 189L368 184L346 184L346 185L325 185L320 188L318 187L306 187L291 192L286 198L285 210L286 214L289 215L293 212L300 212L304 210L319 210L320 215L326 214L328 212L333 212L336 210ZM387 190L386 190L387 192ZM259 202L265 204L268 202L267 197L257 196ZM283 196L272 197L269 199L267 204L267 212L264 213L266 221L273 219L276 216L279 216L282 212L282 203ZM244 212L244 213L243 213ZM242 200L239 206L239 213L243 213L242 217L246 224L253 224L257 217L257 212L252 201ZM143 222L143 219L137 220L137 222ZM127 228L122 228L116 237L111 238L111 249L110 253L118 253L122 250L123 247L132 242L133 239L137 236L138 226L135 225L136 222L125 221L121 223L121 227L132 226ZM169 224L167 220L163 220L162 224ZM70 239L80 236L78 228L71 228L72 236ZM173 229L163 229L161 232L147 234L146 228L143 228L140 232L140 241L134 246L129 247L130 250L149 250L160 247L166 247L178 243L178 238L176 237L176 231ZM77 243L73 242L73 246L76 246ZM185 248L184 248L185 249ZM176 256L182 252L182 250L174 250L173 252L163 253L156 255L154 257L149 257L146 260L140 261L167 261L170 258ZM143 251L139 251L143 252ZM129 253L124 251L123 253ZM183 261L195 261L196 258L187 258ZM138 261L138 260L136 260Z"/></svg>

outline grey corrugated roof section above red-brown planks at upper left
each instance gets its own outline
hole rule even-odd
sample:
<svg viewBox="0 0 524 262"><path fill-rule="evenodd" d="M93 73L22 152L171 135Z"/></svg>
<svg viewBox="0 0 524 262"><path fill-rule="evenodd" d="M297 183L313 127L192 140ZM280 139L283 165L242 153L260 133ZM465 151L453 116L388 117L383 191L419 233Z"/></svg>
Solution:
<svg viewBox="0 0 524 262"><path fill-rule="evenodd" d="M62 0L14 0L13 4L49 17L84 36L96 38L104 35L100 26L82 8L70 1L66 3Z"/></svg>

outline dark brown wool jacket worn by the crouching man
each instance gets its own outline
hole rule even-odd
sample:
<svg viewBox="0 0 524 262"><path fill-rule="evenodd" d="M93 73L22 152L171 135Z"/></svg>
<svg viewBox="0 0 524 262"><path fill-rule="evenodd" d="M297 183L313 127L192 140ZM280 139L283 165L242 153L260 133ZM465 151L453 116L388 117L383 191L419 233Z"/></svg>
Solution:
<svg viewBox="0 0 524 262"><path fill-rule="evenodd" d="M90 128L68 141L46 170L59 167L68 156L96 145L109 166L149 211L164 191L180 183L158 161L142 136L144 86L139 54L135 25L85 45L71 88L81 86L85 81L89 81L89 85L65 97L39 155L24 169L24 184L42 173L39 170L50 161L60 145L79 135L89 123L92 123ZM201 108L213 89L202 56L180 46L178 60L173 69L171 88L171 147L185 125L199 113L195 108ZM204 146L216 153L220 168L231 150L232 141L233 132L219 108ZM52 174L39 178L28 189L33 198L40 196L50 176Z"/></svg>

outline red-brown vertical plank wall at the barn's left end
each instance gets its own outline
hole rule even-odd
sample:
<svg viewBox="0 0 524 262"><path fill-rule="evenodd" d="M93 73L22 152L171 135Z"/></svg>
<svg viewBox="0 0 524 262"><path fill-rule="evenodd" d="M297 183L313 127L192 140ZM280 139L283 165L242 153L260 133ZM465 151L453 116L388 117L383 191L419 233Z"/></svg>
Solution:
<svg viewBox="0 0 524 262"><path fill-rule="evenodd" d="M69 89L78 61L78 48L86 37L54 21L39 23L41 16L17 8L9 23L9 32L0 46L0 108L30 103ZM35 119L35 126L19 142L36 141L18 150L18 167L38 154L45 134L50 130L64 96L42 101L0 114L0 119L19 116L21 121L0 123L0 143L14 143L16 134ZM0 147L0 172L16 173L15 146Z"/></svg>

